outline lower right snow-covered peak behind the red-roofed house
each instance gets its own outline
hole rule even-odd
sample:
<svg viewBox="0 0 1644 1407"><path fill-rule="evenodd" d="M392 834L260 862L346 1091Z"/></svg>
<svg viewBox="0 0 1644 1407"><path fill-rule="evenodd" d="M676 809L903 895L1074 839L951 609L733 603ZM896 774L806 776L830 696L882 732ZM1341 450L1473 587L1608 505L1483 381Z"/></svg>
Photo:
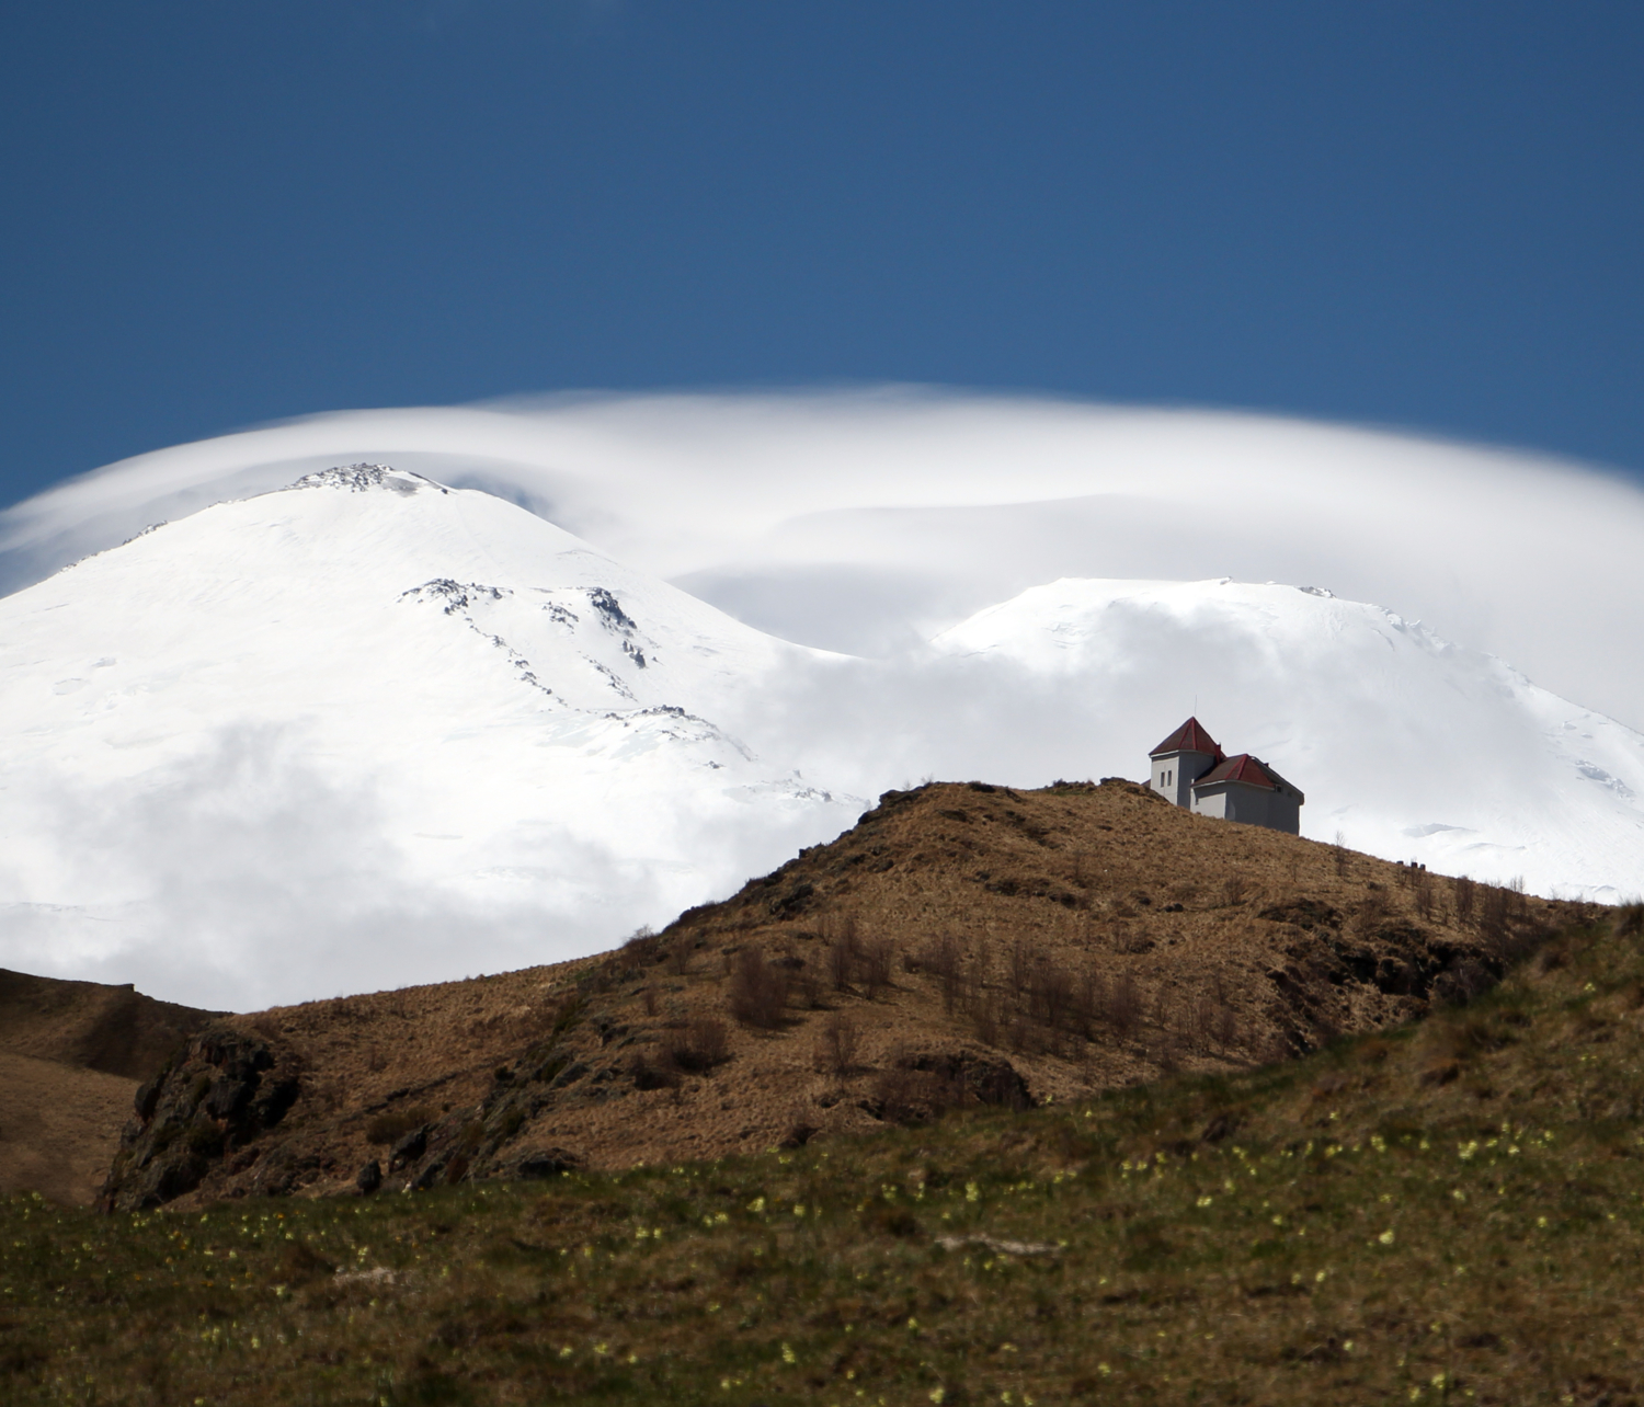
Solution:
<svg viewBox="0 0 1644 1407"><path fill-rule="evenodd" d="M1060 699L1047 741L1064 769L1121 735L1124 754L1098 761L1139 776L1197 713L1302 787L1304 835L1545 894L1644 891L1644 735L1379 607L1225 579L1059 580L934 644L1023 699Z"/></svg>

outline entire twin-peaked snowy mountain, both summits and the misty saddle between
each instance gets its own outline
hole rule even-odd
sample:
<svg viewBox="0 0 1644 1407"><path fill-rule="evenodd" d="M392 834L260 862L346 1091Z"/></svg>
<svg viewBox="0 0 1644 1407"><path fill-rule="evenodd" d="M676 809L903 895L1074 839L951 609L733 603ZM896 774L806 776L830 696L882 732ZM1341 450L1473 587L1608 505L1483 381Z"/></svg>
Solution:
<svg viewBox="0 0 1644 1407"><path fill-rule="evenodd" d="M1143 776L1189 713L1304 835L1644 888L1644 736L1376 607L1069 579L857 659L353 465L0 598L0 965L250 1008L552 962L888 786Z"/></svg>

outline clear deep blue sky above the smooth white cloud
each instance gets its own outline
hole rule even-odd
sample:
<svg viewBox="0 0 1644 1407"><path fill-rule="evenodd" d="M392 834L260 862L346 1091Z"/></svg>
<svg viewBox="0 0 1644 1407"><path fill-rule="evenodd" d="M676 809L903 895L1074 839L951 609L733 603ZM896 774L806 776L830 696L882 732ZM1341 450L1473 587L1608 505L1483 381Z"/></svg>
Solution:
<svg viewBox="0 0 1644 1407"><path fill-rule="evenodd" d="M0 20L0 501L250 422L921 381L1644 480L1644 7Z"/></svg>

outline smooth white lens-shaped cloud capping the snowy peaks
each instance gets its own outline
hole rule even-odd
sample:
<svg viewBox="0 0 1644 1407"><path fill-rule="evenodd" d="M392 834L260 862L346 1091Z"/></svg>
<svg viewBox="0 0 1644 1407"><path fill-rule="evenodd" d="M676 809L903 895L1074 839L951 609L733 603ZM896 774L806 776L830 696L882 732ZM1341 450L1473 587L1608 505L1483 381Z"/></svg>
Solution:
<svg viewBox="0 0 1644 1407"><path fill-rule="evenodd" d="M804 643L889 651L1060 575L1317 582L1644 727L1637 488L1568 462L1223 413L884 390L317 416L13 506L0 585L352 459L505 493Z"/></svg>

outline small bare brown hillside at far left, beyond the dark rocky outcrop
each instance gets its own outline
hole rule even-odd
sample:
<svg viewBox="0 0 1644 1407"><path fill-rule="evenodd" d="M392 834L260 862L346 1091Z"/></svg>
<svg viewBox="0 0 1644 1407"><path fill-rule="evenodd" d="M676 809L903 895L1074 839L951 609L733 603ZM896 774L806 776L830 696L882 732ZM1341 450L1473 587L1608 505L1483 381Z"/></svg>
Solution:
<svg viewBox="0 0 1644 1407"><path fill-rule="evenodd" d="M215 1014L0 968L0 1192L90 1202L138 1083Z"/></svg>

